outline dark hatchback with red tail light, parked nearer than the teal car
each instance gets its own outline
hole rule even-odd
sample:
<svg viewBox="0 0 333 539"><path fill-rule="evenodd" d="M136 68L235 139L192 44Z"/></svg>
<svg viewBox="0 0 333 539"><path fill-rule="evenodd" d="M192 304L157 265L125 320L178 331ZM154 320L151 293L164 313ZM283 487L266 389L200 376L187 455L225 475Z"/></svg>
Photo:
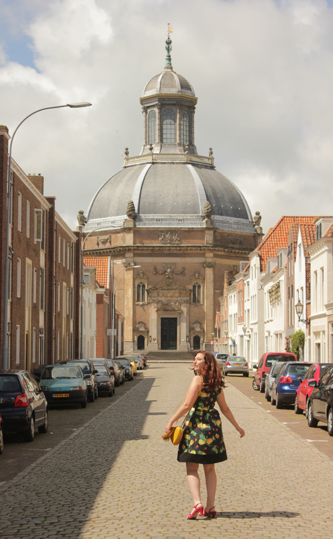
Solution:
<svg viewBox="0 0 333 539"><path fill-rule="evenodd" d="M46 398L30 372L10 369L0 374L0 412L4 432L22 432L25 441L33 441L36 427L47 432Z"/></svg>

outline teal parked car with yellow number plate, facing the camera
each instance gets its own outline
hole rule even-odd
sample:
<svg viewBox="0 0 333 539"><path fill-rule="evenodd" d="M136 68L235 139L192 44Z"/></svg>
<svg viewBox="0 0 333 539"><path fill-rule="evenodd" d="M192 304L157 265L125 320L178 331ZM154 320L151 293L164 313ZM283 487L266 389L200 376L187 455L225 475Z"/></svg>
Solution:
<svg viewBox="0 0 333 539"><path fill-rule="evenodd" d="M79 365L47 365L41 373L40 386L48 404L87 406L87 382Z"/></svg>

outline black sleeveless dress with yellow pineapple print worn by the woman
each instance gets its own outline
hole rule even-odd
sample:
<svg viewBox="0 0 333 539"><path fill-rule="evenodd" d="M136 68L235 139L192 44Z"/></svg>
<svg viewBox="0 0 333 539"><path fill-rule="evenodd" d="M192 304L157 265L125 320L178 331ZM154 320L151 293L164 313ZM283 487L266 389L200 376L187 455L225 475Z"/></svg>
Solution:
<svg viewBox="0 0 333 539"><path fill-rule="evenodd" d="M221 387L207 391L206 385L203 382L202 390L185 421L183 437L178 447L179 462L215 464L228 458L223 441L221 418L214 408Z"/></svg>

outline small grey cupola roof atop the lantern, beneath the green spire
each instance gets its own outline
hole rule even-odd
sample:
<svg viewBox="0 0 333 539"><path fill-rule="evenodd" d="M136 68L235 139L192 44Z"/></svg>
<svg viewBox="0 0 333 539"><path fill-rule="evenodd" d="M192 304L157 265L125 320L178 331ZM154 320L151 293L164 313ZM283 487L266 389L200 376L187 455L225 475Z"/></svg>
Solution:
<svg viewBox="0 0 333 539"><path fill-rule="evenodd" d="M143 97L156 94L182 94L195 97L194 89L184 77L166 68L146 84Z"/></svg>

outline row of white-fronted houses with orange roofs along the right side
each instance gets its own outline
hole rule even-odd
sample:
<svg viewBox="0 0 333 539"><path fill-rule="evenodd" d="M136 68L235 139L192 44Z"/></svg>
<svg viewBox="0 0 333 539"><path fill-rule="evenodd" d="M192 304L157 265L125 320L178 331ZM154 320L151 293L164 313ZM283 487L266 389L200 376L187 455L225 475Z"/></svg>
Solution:
<svg viewBox="0 0 333 539"><path fill-rule="evenodd" d="M245 356L252 365L266 351L284 351L300 329L301 360L333 362L332 241L332 217L281 217L246 267L241 262L239 273L225 272L215 350Z"/></svg>

